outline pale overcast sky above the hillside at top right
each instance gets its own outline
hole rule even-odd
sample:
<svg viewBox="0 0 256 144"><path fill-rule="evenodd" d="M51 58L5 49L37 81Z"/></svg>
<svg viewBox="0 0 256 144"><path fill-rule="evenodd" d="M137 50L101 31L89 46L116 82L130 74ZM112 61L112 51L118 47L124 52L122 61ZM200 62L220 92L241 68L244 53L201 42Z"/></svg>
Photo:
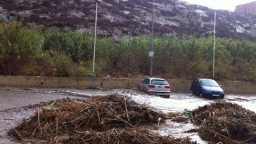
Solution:
<svg viewBox="0 0 256 144"><path fill-rule="evenodd" d="M246 4L256 0L183 0L189 3L207 6L215 10L234 11L239 4Z"/></svg>

